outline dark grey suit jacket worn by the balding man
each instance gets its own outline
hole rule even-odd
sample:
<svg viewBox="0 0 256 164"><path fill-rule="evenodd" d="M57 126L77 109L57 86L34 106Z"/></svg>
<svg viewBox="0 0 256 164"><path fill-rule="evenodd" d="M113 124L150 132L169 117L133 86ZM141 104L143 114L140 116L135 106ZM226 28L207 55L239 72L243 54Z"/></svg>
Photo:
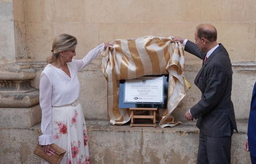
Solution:
<svg viewBox="0 0 256 164"><path fill-rule="evenodd" d="M195 43L187 41L185 51L204 59L206 53ZM201 90L201 100L190 112L197 119L197 128L211 137L226 137L237 131L234 106L231 101L232 68L229 54L219 44L195 78L195 85Z"/></svg>

